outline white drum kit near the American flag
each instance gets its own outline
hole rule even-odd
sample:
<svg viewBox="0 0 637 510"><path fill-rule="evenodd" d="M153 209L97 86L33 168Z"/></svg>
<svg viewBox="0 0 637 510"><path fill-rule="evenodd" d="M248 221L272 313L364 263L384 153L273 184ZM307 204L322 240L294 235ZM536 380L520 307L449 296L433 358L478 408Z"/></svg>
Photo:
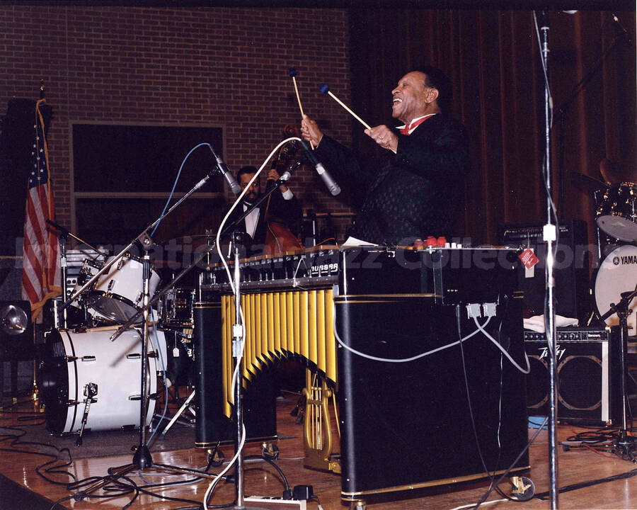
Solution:
<svg viewBox="0 0 637 510"><path fill-rule="evenodd" d="M64 257L63 249L60 255ZM110 337L142 309L144 264L125 254L81 290L111 261L112 256L105 261L103 256L84 259L77 283L67 290L67 297L76 295L75 299L64 308L62 297L57 297L48 307L51 327L45 333L40 363L47 429L54 434L78 433L78 445L85 430L139 428L142 421L143 317L115 341ZM159 273L151 268L149 295L156 293L160 281ZM161 297L157 310L149 313L144 426L151 425L158 378L169 370L168 355L177 348L169 353L167 343L170 346L174 339L188 344L192 338L193 297L193 290L173 288Z"/></svg>

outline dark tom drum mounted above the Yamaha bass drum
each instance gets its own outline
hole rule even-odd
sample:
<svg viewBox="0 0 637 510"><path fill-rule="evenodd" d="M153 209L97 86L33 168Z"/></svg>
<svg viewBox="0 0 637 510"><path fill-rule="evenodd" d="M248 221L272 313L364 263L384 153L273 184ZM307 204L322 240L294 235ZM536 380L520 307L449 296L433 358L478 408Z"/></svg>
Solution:
<svg viewBox="0 0 637 510"><path fill-rule="evenodd" d="M597 226L620 241L637 239L637 184L609 186L597 206Z"/></svg>

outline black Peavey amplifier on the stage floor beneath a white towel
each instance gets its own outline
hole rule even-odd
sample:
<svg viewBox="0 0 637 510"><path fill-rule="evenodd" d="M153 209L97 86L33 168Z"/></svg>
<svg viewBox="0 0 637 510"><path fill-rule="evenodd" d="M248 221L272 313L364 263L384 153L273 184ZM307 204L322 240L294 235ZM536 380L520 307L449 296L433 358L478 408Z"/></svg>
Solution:
<svg viewBox="0 0 637 510"><path fill-rule="evenodd" d="M619 329L557 329L558 419L612 424L621 418ZM548 346L544 333L524 331L531 372L527 375L529 416L549 412Z"/></svg>

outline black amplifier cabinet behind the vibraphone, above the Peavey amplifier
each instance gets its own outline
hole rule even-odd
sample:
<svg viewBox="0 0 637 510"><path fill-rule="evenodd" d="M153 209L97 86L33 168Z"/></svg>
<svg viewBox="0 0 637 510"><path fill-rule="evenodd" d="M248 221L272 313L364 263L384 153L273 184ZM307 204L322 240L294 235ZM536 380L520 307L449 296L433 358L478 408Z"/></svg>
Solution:
<svg viewBox="0 0 637 510"><path fill-rule="evenodd" d="M544 269L546 242L542 240L543 225L507 224L498 227L498 243L503 246L530 247L539 259L532 271L525 271L520 263L518 278L524 291L524 307L535 314L544 310ZM590 314L588 268L590 250L587 244L586 222L562 221L558 229L557 253L554 266L556 312L565 317L577 317L580 324Z"/></svg>

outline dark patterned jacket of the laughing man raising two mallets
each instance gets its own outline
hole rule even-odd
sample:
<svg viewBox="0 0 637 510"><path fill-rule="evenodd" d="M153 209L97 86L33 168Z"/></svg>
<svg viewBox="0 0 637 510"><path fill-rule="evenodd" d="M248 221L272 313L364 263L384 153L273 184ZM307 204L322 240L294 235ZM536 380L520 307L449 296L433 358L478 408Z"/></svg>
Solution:
<svg viewBox="0 0 637 510"><path fill-rule="evenodd" d="M352 187L359 209L355 235L373 243L411 244L427 236L451 238L454 213L469 171L463 125L434 115L411 135L398 135L396 154L365 164L323 136L318 157L340 182Z"/></svg>

